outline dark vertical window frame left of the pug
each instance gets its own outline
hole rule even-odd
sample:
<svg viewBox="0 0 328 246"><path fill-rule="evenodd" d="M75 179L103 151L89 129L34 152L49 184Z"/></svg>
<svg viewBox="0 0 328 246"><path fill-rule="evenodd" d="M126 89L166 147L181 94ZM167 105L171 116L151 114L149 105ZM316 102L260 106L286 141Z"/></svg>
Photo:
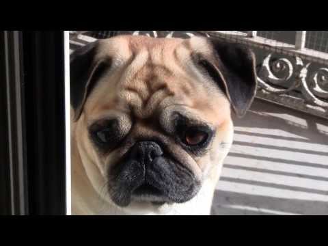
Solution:
<svg viewBox="0 0 328 246"><path fill-rule="evenodd" d="M1 215L67 214L64 37L64 31L0 33Z"/></svg>

